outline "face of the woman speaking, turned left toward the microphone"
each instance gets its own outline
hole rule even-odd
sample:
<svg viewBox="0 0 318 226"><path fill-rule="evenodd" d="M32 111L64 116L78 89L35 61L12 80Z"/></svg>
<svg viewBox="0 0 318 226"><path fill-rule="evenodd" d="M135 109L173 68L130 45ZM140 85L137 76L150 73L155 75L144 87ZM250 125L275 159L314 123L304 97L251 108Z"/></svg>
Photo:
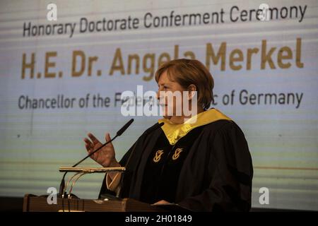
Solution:
<svg viewBox="0 0 318 226"><path fill-rule="evenodd" d="M165 119L170 119L172 116L182 116L183 91L186 90L179 83L171 81L166 71L161 74L158 81L157 98L160 106L163 107Z"/></svg>

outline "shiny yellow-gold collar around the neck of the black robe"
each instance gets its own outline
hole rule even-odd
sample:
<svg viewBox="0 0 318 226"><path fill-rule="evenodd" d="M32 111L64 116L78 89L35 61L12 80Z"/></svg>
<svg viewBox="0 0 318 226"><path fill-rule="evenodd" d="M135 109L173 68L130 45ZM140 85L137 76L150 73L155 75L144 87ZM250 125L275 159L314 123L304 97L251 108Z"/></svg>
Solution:
<svg viewBox="0 0 318 226"><path fill-rule="evenodd" d="M192 129L222 119L232 121L232 119L218 111L218 109L213 108L196 114L194 117L191 117L185 121L184 124L173 124L169 121L169 119L159 119L158 123L165 123L163 126L161 126L161 129L163 129L163 132L165 133L170 145L175 145L180 138L186 136L189 131L192 131ZM194 121L194 123L192 123L192 121Z"/></svg>

